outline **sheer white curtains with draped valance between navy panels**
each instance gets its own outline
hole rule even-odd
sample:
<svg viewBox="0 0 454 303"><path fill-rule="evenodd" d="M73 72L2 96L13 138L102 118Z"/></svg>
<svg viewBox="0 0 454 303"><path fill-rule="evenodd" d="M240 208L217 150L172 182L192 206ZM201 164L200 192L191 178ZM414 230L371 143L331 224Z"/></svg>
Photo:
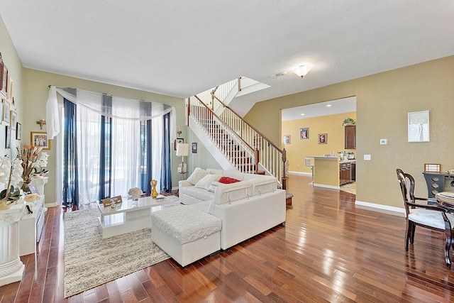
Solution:
<svg viewBox="0 0 454 303"><path fill-rule="evenodd" d="M51 89L50 92L53 92ZM101 167L101 116L111 119L111 196L126 197L128 189L141 187L143 162L141 158L141 123L152 123L152 167L153 179L160 189L163 116L171 112L171 137L175 137L175 108L167 104L149 102L143 106L133 99L111 97L103 103L103 94L81 89L56 88L55 94L77 104L77 159L79 172L79 203L88 204L99 199ZM50 94L48 102L57 98ZM151 105L150 105L151 104ZM142 106L141 106L142 105ZM146 110L143 110L146 108ZM55 118L54 118L55 119ZM55 132L55 130L54 130ZM110 135L110 130L109 130ZM171 142L175 138L171 139ZM64 155L63 155L64 156ZM147 155L149 156L149 155Z"/></svg>

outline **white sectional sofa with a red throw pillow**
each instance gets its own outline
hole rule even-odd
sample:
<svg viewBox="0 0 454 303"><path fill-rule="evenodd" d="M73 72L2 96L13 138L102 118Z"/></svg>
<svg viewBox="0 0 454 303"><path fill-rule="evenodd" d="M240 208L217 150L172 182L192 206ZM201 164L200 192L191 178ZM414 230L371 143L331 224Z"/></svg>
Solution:
<svg viewBox="0 0 454 303"><path fill-rule="evenodd" d="M221 177L240 182L219 184ZM221 219L221 248L227 249L285 221L285 190L277 179L229 170L199 167L179 181L182 204Z"/></svg>

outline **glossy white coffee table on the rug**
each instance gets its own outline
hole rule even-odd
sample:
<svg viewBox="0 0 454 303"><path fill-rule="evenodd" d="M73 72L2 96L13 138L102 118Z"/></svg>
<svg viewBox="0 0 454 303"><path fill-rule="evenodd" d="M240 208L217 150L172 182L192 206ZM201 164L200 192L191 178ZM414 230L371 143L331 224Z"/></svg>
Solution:
<svg viewBox="0 0 454 303"><path fill-rule="evenodd" d="M117 236L122 233L138 231L139 229L151 227L151 212L158 206L165 206L177 202L175 198L152 197L139 198L138 201L131 199L111 206L104 207L98 204L101 216L98 217L102 228L102 238Z"/></svg>

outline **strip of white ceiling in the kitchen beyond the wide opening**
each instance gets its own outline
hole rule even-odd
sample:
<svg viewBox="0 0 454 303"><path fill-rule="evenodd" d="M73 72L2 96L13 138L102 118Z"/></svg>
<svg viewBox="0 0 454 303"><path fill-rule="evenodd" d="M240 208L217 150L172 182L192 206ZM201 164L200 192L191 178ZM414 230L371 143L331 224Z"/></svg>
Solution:
<svg viewBox="0 0 454 303"><path fill-rule="evenodd" d="M292 109L282 109L281 119L282 121L289 121L319 116L351 113L353 111L356 111L356 97L348 97L316 104L293 107Z"/></svg>

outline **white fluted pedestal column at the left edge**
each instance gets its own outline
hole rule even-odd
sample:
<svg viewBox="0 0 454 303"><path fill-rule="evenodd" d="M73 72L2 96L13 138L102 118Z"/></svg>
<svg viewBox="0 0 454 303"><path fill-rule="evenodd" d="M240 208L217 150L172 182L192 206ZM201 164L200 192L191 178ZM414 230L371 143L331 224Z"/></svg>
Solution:
<svg viewBox="0 0 454 303"><path fill-rule="evenodd" d="M22 279L23 265L19 258L18 221L23 216L23 205L0 211L0 286Z"/></svg>

